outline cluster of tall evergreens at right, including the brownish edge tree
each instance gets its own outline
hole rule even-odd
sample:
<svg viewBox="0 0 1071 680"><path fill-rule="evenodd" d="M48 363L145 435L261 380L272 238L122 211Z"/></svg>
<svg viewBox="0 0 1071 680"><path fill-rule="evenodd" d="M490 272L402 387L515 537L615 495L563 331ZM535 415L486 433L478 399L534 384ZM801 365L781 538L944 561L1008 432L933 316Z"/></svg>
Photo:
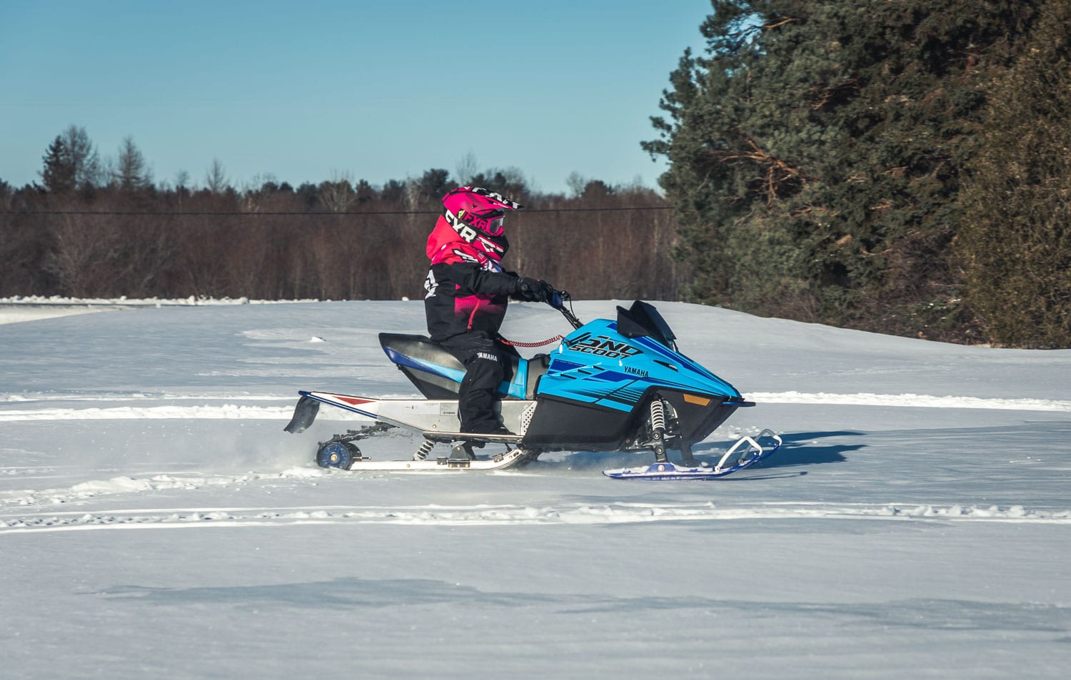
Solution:
<svg viewBox="0 0 1071 680"><path fill-rule="evenodd" d="M714 0L645 142L685 299L1071 347L1071 0Z"/></svg>

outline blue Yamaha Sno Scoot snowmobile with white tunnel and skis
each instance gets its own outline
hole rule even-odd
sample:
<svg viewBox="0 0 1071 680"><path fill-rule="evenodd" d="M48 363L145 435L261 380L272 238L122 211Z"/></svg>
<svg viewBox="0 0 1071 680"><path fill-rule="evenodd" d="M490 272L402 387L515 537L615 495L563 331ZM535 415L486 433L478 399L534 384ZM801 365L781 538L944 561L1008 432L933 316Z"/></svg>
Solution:
<svg viewBox="0 0 1071 680"><path fill-rule="evenodd" d="M549 304L573 332L554 338L561 342L549 353L509 359L496 413L515 434L457 432L465 366L426 336L397 333L380 333L379 343L424 398L300 391L285 429L304 432L321 404L374 421L317 444L319 466L346 470L497 470L550 451L653 452L652 465L603 471L620 480L714 479L751 467L781 445L778 435L764 430L741 437L716 465L697 462L692 447L754 403L680 353L674 332L649 303L637 300L628 309L618 306L616 320L588 323L573 314L568 292L556 291ZM422 438L411 459L377 460L361 453L357 441L393 427ZM429 457L438 443L451 447L450 453ZM506 451L474 453L486 444L502 444ZM680 452L680 464L669 460L669 450Z"/></svg>

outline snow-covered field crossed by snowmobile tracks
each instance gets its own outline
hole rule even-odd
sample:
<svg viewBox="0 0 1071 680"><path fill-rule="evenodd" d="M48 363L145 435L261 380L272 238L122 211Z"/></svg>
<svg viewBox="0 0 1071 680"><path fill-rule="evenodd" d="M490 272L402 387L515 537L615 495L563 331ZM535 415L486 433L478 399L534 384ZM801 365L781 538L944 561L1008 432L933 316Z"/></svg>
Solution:
<svg viewBox="0 0 1071 680"><path fill-rule="evenodd" d="M414 395L376 334L419 301L0 301L0 677L1071 677L1071 351L658 306L759 403L697 456L770 427L769 462L329 472L357 423L284 433L297 391Z"/></svg>

